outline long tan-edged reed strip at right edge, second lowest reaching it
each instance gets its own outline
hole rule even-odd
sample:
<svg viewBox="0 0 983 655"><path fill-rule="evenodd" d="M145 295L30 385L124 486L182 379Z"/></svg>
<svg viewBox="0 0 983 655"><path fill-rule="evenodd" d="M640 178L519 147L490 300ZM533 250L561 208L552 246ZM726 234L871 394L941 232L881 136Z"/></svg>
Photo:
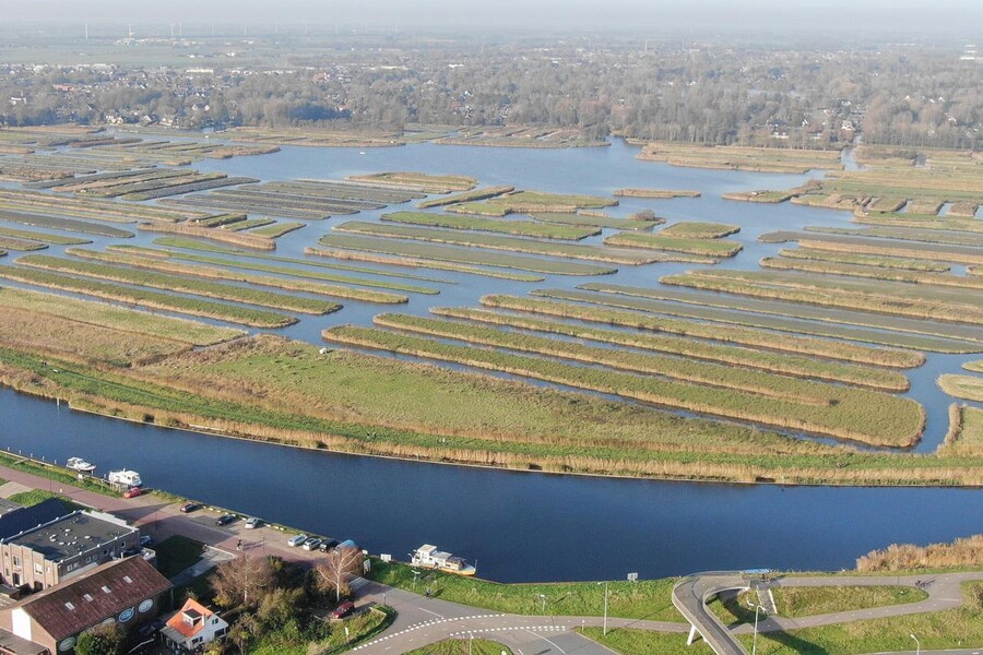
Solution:
<svg viewBox="0 0 983 655"><path fill-rule="evenodd" d="M952 301L913 297L904 293L858 290L844 288L845 282L825 283L815 277L803 276L792 279L735 271L727 271L725 276L718 276L708 271L691 271L682 275L663 276L660 282L755 298L774 298L915 319L969 324L983 322L983 305L971 297L964 301Z"/></svg>

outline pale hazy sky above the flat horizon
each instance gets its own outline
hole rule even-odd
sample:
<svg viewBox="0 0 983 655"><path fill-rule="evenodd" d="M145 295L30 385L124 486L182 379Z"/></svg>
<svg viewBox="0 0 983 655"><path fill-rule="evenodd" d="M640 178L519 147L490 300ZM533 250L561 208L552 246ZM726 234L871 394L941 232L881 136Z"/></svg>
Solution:
<svg viewBox="0 0 983 655"><path fill-rule="evenodd" d="M222 22L371 24L401 29L496 28L972 34L980 0L0 0L0 24Z"/></svg>

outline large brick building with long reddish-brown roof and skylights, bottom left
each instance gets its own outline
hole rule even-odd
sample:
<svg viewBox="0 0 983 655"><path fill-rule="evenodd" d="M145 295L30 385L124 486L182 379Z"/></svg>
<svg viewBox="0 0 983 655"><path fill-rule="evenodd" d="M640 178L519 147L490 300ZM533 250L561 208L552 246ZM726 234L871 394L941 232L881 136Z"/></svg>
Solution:
<svg viewBox="0 0 983 655"><path fill-rule="evenodd" d="M157 616L170 582L142 557L103 564L0 610L0 633L49 653L71 653L79 634L110 621L125 629Z"/></svg>

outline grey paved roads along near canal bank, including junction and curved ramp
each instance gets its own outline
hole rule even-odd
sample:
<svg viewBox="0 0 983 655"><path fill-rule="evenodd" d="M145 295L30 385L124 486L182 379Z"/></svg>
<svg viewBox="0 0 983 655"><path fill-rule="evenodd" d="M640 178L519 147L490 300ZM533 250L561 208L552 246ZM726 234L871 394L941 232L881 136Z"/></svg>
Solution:
<svg viewBox="0 0 983 655"><path fill-rule="evenodd" d="M0 466L0 477L14 483L7 486L10 492L19 488L43 489L63 495L73 501L100 511L116 514L140 527L157 540L173 535L181 535L201 541L211 548L235 556L275 555L286 561L313 564L323 557L300 548L291 548L286 540L291 534L270 526L246 529L244 522L236 521L220 527L215 519L220 509L202 509L190 514L179 512L180 503L168 502L147 495L133 499L105 496L86 489L62 486L48 478ZM22 487L19 487L22 486ZM908 576L790 576L771 581L772 586L833 586L833 585L885 585L899 584L914 587L922 583L928 598L919 603L892 605L869 609L852 610L787 619L763 617L758 623L761 632L789 631L817 626L829 626L864 619L941 611L962 604L960 584L970 580L983 580L983 572L947 573L938 575ZM425 598L419 594L388 587L359 579L359 605L387 604L396 609L396 618L383 634L357 650L365 655L395 655L413 648L435 643L443 639L486 638L504 643L520 655L607 655L604 646L583 638L573 630L579 627L601 627L601 617L564 616L519 616L492 612L464 605L448 603L439 598ZM739 572L718 572L696 574L684 579L673 590L673 605L690 624L703 636L715 653L723 655L745 655L746 651L735 639L735 634L749 633L751 626L741 624L733 630L724 626L707 609L706 602L725 590L747 588L748 579ZM679 633L680 652L685 648L687 623L667 621L646 621L633 619L608 619L609 628L636 628L661 632ZM912 652L913 653L913 652ZM929 655L929 651L922 651ZM959 651L944 651L946 655L983 655L983 647ZM872 654L873 655L873 654ZM881 655L881 654L876 654ZM903 654L902 654L903 655Z"/></svg>

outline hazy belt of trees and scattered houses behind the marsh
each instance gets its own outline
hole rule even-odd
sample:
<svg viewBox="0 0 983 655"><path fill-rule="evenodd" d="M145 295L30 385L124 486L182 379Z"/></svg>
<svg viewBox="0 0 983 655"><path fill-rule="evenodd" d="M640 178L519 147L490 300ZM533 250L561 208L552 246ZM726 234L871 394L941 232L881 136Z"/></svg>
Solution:
<svg viewBox="0 0 983 655"><path fill-rule="evenodd" d="M400 128L531 124L601 138L829 145L844 122L868 143L973 147L983 66L959 52L783 50L725 46L638 51L506 43L340 50L310 68L228 71L0 72L0 122L119 115L187 127L339 122ZM67 87L73 91L64 91Z"/></svg>

